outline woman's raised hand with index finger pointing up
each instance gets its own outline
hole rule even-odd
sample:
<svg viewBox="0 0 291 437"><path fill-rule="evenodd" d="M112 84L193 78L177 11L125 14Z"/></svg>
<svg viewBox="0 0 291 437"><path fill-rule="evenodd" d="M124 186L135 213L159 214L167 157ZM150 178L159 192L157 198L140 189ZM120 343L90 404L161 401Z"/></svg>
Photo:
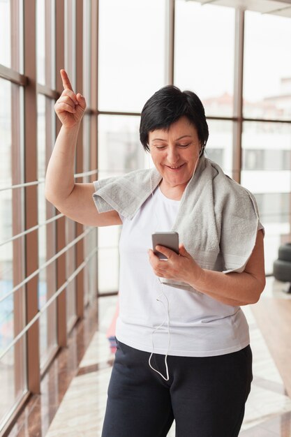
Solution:
<svg viewBox="0 0 291 437"><path fill-rule="evenodd" d="M82 94L75 94L65 70L61 70L61 80L64 91L54 105L54 110L61 124L66 128L73 128L80 124L86 109L86 101Z"/></svg>

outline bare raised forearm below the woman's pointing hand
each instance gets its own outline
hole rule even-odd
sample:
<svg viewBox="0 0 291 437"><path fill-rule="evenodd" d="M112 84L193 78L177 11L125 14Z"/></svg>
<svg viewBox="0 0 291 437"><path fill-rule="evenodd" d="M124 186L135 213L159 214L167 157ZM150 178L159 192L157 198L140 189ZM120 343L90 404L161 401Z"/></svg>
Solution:
<svg viewBox="0 0 291 437"><path fill-rule="evenodd" d="M45 176L45 197L54 205L68 198L72 192L75 169L75 147L80 125L61 127Z"/></svg>

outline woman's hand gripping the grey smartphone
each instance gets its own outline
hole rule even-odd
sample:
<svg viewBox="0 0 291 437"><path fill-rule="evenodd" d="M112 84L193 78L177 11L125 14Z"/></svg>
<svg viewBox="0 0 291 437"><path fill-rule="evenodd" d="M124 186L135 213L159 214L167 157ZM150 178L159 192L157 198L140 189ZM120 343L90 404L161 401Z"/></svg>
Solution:
<svg viewBox="0 0 291 437"><path fill-rule="evenodd" d="M203 269L197 265L183 244L179 245L179 255L164 246L156 246L156 250L167 257L167 260L160 260L154 251L149 249L149 262L156 276L183 281L191 286L194 281L200 279Z"/></svg>

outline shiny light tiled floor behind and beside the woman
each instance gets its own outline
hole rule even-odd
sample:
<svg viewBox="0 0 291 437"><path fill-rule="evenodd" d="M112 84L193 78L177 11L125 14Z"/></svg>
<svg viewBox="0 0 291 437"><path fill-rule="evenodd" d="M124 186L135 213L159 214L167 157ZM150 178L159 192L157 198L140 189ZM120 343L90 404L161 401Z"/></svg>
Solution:
<svg viewBox="0 0 291 437"><path fill-rule="evenodd" d="M244 307L253 349L253 385L241 437L291 437L291 295L267 279L255 305ZM105 332L116 297L88 311L10 431L13 437L100 436L114 355ZM288 396L289 394L289 396ZM174 437L174 424L168 437Z"/></svg>

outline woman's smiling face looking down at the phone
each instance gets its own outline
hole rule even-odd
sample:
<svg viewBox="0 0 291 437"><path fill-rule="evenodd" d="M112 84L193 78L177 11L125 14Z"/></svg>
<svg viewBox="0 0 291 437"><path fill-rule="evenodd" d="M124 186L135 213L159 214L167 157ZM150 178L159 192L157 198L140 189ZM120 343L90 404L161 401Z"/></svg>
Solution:
<svg viewBox="0 0 291 437"><path fill-rule="evenodd" d="M168 130L151 131L149 149L154 165L163 177L161 190L168 197L181 198L201 149L197 129L187 117L181 117Z"/></svg>

